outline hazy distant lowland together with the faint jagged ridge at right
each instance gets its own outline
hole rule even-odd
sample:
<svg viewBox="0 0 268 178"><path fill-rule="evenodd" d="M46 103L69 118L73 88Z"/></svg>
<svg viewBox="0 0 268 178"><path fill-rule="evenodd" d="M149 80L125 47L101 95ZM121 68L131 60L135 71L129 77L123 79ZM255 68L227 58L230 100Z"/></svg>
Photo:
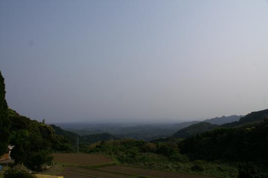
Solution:
<svg viewBox="0 0 268 178"><path fill-rule="evenodd" d="M220 118L206 119L204 121L206 121L207 123L211 123L211 124L223 124L227 122L237 121L241 117L242 116L236 116L236 115L229 116L229 117L222 116ZM80 135L81 137L85 135L91 135L92 137L97 137L96 134L103 135L103 133L109 133L117 138L134 138L138 140L143 139L146 141L150 141L150 140L157 139L157 138L170 137L176 131L186 128L188 126L191 126L192 124L197 124L200 122L202 121L188 121L188 122L181 122L181 123L175 123L175 124L167 123L167 124L136 124L136 125L109 124L109 123L108 124L85 123L83 124L84 128L81 127L79 123L72 124L72 125L59 123L59 126L62 126L64 130L69 131L71 133L76 133ZM204 126L203 124L196 125L196 126L199 126L200 128L200 130L196 128L197 129L196 132L200 133L201 131L203 132L207 130L207 129L202 128L202 126ZM56 134L57 134L57 128L55 127L53 128L56 130ZM60 130L63 130L63 129L60 128ZM185 129L185 130L189 130L189 129ZM60 133L63 134L63 131L60 131ZM70 135L70 133L67 134L66 132L64 134ZM75 140L77 139L76 137L77 136L75 136L74 138ZM186 137L186 136L184 135L183 137ZM102 136L100 138L102 138ZM108 138L109 136L106 137L106 139ZM92 138L92 140L94 139Z"/></svg>

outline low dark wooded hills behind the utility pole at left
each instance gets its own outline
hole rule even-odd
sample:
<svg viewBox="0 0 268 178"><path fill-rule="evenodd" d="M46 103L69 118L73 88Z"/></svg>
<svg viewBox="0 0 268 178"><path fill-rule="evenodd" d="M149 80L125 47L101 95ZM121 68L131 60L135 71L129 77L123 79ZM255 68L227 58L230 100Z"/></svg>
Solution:
<svg viewBox="0 0 268 178"><path fill-rule="evenodd" d="M77 134L66 131L61 129L60 127L57 127L56 125L50 125L54 130L55 134L58 136L63 136L64 138L68 139L72 144L76 144L77 142ZM80 143L94 143L97 141L108 141L108 140L115 140L118 139L117 137L113 136L112 134L109 133L99 133L99 134L90 134L90 135L84 135L80 136L78 135L78 139Z"/></svg>

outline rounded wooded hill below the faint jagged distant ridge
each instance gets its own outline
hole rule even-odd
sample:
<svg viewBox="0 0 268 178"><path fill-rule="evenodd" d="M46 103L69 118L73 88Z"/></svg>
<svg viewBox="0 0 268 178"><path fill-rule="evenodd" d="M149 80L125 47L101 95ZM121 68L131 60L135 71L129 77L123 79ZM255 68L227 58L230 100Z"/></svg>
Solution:
<svg viewBox="0 0 268 178"><path fill-rule="evenodd" d="M187 137L191 137L191 135L195 135L197 133L203 133L206 132L208 130L214 129L216 128L218 125L216 124L211 124L209 122L199 122L196 124L192 124L188 127L185 127L179 131L177 131L176 133L174 133L172 135L172 137L174 138L187 138Z"/></svg>

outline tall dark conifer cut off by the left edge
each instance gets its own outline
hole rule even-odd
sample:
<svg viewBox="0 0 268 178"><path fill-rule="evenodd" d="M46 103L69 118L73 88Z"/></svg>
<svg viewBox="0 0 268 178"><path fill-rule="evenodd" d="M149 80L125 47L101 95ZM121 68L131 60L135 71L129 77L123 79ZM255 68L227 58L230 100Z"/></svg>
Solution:
<svg viewBox="0 0 268 178"><path fill-rule="evenodd" d="M10 121L8 120L7 114L8 106L5 100L5 84L0 72L0 155L6 152L10 137Z"/></svg>

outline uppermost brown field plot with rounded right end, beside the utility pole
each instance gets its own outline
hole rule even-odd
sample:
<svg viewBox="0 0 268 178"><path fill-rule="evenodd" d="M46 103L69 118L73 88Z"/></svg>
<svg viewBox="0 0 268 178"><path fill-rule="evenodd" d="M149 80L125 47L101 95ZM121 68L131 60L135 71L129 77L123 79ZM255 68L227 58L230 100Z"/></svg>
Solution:
<svg viewBox="0 0 268 178"><path fill-rule="evenodd" d="M113 159L95 154L53 154L54 161L62 164L94 165L113 162Z"/></svg>

